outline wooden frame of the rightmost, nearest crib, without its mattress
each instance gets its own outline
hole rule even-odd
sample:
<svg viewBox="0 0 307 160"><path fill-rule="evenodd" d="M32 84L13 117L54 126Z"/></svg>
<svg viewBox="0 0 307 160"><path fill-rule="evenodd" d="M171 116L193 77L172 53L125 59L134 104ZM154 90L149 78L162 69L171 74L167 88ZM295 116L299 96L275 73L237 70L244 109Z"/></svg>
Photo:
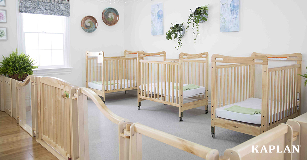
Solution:
<svg viewBox="0 0 307 160"><path fill-rule="evenodd" d="M297 64L268 68L269 59L297 61ZM257 60L260 60L262 62L259 62ZM295 97L297 97L297 93L299 94L301 92L301 77L297 75L301 74L301 61L302 55L300 53L279 55L252 53L251 57L229 57L219 54L213 54L211 77L212 138L214 138L215 136L216 126L257 136L263 132L266 132L269 129L276 127L278 124L285 123L288 119L292 119L300 115L300 99L298 98L297 100L295 100ZM232 64L216 65L216 63ZM233 104L235 102L240 102L245 99L254 97L255 65L262 65L262 114L260 127L255 126L253 124L247 124L244 122L215 117L216 108L227 106L229 104ZM236 70L237 72L235 72ZM231 75L231 78L229 78L229 74ZM236 84L237 87L235 87ZM271 102L270 113L269 102ZM279 117L276 117L276 114L272 114L272 110L278 110Z"/></svg>

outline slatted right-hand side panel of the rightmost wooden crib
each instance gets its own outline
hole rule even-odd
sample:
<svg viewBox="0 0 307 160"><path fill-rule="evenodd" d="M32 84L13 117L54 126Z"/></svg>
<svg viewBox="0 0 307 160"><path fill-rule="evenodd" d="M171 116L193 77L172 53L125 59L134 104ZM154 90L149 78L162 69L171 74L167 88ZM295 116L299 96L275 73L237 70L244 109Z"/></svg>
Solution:
<svg viewBox="0 0 307 160"><path fill-rule="evenodd" d="M267 127L299 114L301 64L268 69L269 116ZM274 113L275 111L275 113ZM270 121L269 121L270 119Z"/></svg>

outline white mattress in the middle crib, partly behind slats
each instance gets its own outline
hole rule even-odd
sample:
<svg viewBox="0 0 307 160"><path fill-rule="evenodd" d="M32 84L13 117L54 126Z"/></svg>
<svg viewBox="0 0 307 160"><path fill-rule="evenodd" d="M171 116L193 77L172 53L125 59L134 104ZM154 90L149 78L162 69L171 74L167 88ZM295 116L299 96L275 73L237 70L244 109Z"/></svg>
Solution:
<svg viewBox="0 0 307 160"><path fill-rule="evenodd" d="M162 85L161 85L161 83L162 83ZM154 92L154 83L152 83L152 84L149 84L149 88L147 88L147 85L148 84L143 84L143 90L145 90L145 91L150 91L150 92ZM177 84L178 85L178 94L176 95L176 89L174 89L174 96L176 97L179 97L179 83ZM182 84L183 86L186 86L186 85L188 85L188 84ZM141 88L141 86L142 85L140 85L139 87L140 87L140 89L142 89ZM156 83L156 94L160 94L161 95L161 93L162 93L162 95L165 95L165 83L164 82L159 82L159 90L160 91L158 91L158 83ZM172 85L172 83L170 83L170 86L171 86L171 88L173 88L173 85ZM176 83L174 83L174 87L176 87ZM183 98L185 98L185 97L191 97L191 96L193 96L193 95L198 95L198 94L201 94L201 93L206 93L206 87L203 87L203 86L200 86L199 88L196 88L196 89L191 89L191 90L187 90L187 91L183 91L182 92L182 96L183 96ZM169 95L169 96L173 96L173 90L171 89L170 90L170 93L169 93L169 84L168 84L168 82L166 82L166 95Z"/></svg>

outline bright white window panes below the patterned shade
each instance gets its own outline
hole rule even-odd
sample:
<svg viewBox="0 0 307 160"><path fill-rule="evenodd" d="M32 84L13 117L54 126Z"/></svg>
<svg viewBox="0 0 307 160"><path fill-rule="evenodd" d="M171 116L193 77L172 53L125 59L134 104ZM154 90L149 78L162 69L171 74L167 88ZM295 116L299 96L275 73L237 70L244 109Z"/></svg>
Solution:
<svg viewBox="0 0 307 160"><path fill-rule="evenodd" d="M23 52L39 69L68 67L67 17L21 13Z"/></svg>

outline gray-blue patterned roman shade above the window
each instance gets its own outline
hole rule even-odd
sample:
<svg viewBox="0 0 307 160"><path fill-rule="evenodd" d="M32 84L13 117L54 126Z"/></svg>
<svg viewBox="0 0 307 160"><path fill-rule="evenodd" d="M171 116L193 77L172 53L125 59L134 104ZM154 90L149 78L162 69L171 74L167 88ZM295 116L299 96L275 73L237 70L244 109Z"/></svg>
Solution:
<svg viewBox="0 0 307 160"><path fill-rule="evenodd" d="M69 17L69 0L19 0L19 12Z"/></svg>

